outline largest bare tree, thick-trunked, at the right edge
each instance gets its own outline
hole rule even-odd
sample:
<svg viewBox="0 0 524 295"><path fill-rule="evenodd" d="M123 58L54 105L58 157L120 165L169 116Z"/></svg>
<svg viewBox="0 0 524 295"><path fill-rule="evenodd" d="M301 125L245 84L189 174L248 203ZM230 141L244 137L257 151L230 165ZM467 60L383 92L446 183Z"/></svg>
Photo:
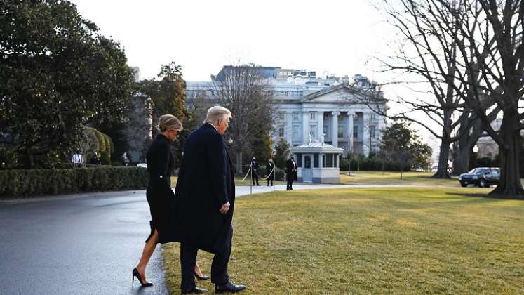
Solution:
<svg viewBox="0 0 524 295"><path fill-rule="evenodd" d="M501 178L492 194L524 197L520 183L519 157L523 141L524 112L520 100L524 95L524 2L520 0L461 0L455 5L438 1L436 13L451 13L458 24L457 34L450 37L457 43L464 71L454 77L469 86L459 93L485 131L499 145ZM443 24L449 29L448 24ZM464 73L464 74L463 74ZM481 79L467 79L478 75ZM498 131L490 125L483 106L490 96L502 111Z"/></svg>

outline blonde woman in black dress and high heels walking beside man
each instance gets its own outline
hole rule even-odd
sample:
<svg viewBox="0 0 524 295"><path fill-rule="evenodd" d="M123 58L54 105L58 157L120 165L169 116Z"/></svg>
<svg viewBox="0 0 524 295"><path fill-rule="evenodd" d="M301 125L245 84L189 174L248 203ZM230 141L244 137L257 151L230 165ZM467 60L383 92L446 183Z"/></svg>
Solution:
<svg viewBox="0 0 524 295"><path fill-rule="evenodd" d="M158 128L160 133L151 143L147 150L147 171L149 172L149 184L147 185L147 203L151 211L151 234L145 241L144 251L137 267L133 269L133 282L135 277L142 286L152 286L145 279L145 268L151 258L156 244L172 242L170 238L169 225L173 222L174 197L171 190L171 172L175 164L170 143L175 141L178 132L182 130L182 123L172 114L164 114L159 118ZM199 280L206 280L202 275L199 265L195 265L195 275Z"/></svg>

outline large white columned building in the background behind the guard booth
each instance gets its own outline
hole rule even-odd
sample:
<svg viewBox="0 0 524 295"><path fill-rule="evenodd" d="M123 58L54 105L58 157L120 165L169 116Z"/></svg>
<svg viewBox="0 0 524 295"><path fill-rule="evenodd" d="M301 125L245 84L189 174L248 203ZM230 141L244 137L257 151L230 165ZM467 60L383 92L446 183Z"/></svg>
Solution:
<svg viewBox="0 0 524 295"><path fill-rule="evenodd" d="M215 81L224 78L224 66ZM366 96L373 105L385 109L387 100L375 83L359 74L353 78L335 77L326 72L318 77L316 72L260 67L263 77L269 80L278 112L275 120L274 143L284 138L292 147L321 141L347 152L369 155L378 150L384 128L384 117L379 116L363 102ZM187 104L191 105L200 92L207 97L213 94L213 82L187 82ZM372 96L371 96L372 94ZM323 134L325 137L323 137Z"/></svg>

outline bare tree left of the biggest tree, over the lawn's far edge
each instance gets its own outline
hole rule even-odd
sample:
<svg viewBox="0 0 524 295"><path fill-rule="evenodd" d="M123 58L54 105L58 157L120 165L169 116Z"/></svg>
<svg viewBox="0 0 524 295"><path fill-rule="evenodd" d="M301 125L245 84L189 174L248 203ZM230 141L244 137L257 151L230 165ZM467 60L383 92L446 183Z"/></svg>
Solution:
<svg viewBox="0 0 524 295"><path fill-rule="evenodd" d="M393 102L404 107L403 111L395 114L386 114L386 110L381 111L378 105L372 110L379 110L391 119L415 122L440 139L438 169L434 177L449 178L450 144L462 138L460 153L471 154L471 143L474 145L478 137L469 135L478 133L481 128L478 117L469 110L461 95L469 93L471 88L471 83L465 83L463 79L466 77L470 81L478 81L483 76L457 74L465 70L462 60L457 58L459 43L450 36L459 32L459 24L449 11L434 13L434 6L441 6L438 1L380 0L379 3L381 5L377 5L377 8L388 15L402 37L398 39L398 48L393 56L377 58L382 65L381 71L395 72L400 74L398 77L406 74L407 80L391 83L402 84L410 89L413 87L415 96L420 97L394 99ZM484 55L487 53L483 52ZM420 90L422 87L425 89ZM493 104L492 100L483 101L486 110ZM493 110L489 117L494 119L497 112L498 109ZM465 150L462 151L462 148Z"/></svg>

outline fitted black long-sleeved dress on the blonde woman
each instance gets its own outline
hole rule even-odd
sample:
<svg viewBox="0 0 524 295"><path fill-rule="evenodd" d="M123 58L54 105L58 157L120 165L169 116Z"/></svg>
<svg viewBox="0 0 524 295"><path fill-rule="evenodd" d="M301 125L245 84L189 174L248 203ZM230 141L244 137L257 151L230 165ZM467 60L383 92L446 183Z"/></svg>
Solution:
<svg viewBox="0 0 524 295"><path fill-rule="evenodd" d="M146 196L151 210L151 235L156 228L160 243L171 242L173 238L170 226L173 223L175 202L175 194L171 190L171 173L175 158L170 150L168 138L162 134L156 136L147 150L146 157L149 171Z"/></svg>

